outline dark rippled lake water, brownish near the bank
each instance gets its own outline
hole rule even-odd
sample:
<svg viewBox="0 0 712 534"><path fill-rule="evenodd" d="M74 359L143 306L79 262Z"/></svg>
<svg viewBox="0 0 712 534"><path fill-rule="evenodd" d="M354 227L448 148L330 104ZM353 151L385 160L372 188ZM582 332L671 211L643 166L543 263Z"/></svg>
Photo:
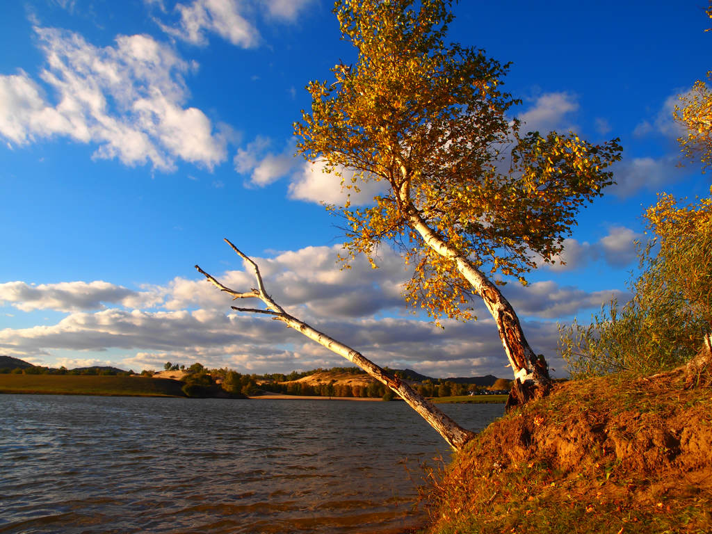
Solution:
<svg viewBox="0 0 712 534"><path fill-rule="evenodd" d="M478 431L503 404L441 405ZM445 441L403 402L0 395L0 533L389 533Z"/></svg>

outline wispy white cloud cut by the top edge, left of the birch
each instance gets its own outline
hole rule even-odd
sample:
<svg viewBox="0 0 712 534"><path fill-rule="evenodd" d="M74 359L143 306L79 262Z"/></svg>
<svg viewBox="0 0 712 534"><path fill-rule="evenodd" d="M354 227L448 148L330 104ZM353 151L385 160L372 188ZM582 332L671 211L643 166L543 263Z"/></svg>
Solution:
<svg viewBox="0 0 712 534"><path fill-rule="evenodd" d="M159 22L162 30L176 38L199 46L208 42L206 33L213 32L241 48L253 48L260 41L253 23L244 17L246 2L236 0L194 0L192 4L177 4L180 14L177 26Z"/></svg>

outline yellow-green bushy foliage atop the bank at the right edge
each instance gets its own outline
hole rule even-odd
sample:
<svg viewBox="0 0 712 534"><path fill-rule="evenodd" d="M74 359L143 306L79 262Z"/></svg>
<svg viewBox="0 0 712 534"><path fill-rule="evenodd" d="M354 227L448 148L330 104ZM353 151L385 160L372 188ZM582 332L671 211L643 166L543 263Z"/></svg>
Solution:
<svg viewBox="0 0 712 534"><path fill-rule="evenodd" d="M712 197L679 207L661 194L645 218L654 238L639 251L633 298L622 307L612 301L589 326L560 327L574 378L681 365L712 330Z"/></svg>

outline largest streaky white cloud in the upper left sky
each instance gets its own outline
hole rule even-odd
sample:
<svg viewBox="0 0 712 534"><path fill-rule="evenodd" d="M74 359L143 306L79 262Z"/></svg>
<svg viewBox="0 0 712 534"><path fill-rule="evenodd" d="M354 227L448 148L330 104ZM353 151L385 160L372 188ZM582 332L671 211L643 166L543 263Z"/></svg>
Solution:
<svg viewBox="0 0 712 534"><path fill-rule="evenodd" d="M226 139L197 108L186 108L184 75L194 66L150 36L118 36L99 48L78 33L35 28L53 105L20 71L0 76L0 135L16 145L70 137L98 145L94 157L174 168L176 159L212 169Z"/></svg>

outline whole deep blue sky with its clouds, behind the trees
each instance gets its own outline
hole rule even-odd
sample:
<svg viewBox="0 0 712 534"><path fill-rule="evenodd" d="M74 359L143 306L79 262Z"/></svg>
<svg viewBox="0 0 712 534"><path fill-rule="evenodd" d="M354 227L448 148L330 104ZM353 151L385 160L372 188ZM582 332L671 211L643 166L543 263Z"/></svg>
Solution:
<svg viewBox="0 0 712 534"><path fill-rule="evenodd" d="M0 354L43 365L240 372L344 365L229 300L195 263L251 287L228 237L295 315L382 365L508 377L486 313L445 330L399 297L395 253L340 271L320 201L337 179L293 156L292 123L355 55L330 1L28 0L1 4ZM626 298L633 240L657 192L705 196L679 168L677 95L708 68L702 1L461 1L451 40L512 62L527 130L620 137L617 185L582 211L567 265L505 295L556 375L556 323Z"/></svg>

